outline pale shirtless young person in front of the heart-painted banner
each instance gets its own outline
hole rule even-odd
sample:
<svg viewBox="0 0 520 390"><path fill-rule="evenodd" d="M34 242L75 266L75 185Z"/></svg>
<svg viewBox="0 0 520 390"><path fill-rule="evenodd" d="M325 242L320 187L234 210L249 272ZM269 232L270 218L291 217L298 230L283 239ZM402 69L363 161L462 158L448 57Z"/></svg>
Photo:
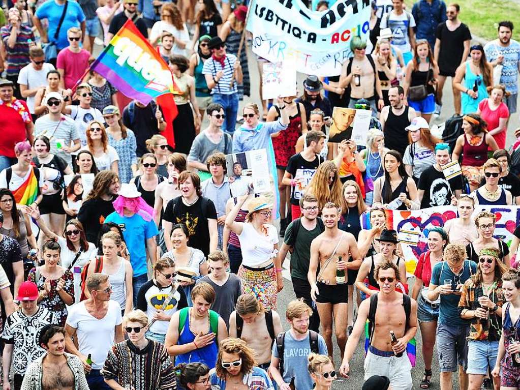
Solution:
<svg viewBox="0 0 520 390"><path fill-rule="evenodd" d="M451 199L452 204L457 204L459 218L448 219L444 224L444 230L448 233L450 242L466 246L478 238L477 227L471 218L475 210L475 200L467 195L459 199Z"/></svg>

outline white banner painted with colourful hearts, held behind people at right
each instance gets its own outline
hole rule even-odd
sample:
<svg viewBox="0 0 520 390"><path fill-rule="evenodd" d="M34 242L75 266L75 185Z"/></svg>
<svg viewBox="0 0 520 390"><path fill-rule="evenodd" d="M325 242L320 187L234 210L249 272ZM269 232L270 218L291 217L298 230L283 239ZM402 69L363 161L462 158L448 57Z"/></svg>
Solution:
<svg viewBox="0 0 520 390"><path fill-rule="evenodd" d="M520 206L476 206L473 217L480 211L489 211L497 216L495 234L493 237L503 240L511 245L513 232L520 224ZM428 231L433 227L443 227L448 219L457 218L457 207L439 206L430 207L428 209L400 211L386 210L386 226L388 229L401 230L405 232L420 233L417 245L401 245L405 260L407 262L407 271L412 274L415 265L421 253L427 251L427 235ZM369 218L362 218L362 225L370 224ZM363 226L363 229L369 226Z"/></svg>

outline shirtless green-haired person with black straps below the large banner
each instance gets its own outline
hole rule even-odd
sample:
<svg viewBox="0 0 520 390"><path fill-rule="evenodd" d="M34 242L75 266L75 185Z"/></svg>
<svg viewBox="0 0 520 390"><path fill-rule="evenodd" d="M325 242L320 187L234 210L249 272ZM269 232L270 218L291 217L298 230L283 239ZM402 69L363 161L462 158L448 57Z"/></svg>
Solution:
<svg viewBox="0 0 520 390"><path fill-rule="evenodd" d="M343 63L340 76L340 87L352 88L348 108L355 108L359 99L370 101L372 116L378 114L385 105L378 72L372 57L366 55L367 42L356 36L350 40L350 50L354 57Z"/></svg>

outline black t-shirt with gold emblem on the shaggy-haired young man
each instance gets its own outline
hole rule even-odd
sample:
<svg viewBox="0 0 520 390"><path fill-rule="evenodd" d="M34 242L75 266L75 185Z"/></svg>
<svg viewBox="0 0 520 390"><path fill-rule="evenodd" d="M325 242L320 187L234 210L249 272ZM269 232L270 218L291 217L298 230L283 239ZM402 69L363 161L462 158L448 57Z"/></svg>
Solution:
<svg viewBox="0 0 520 390"><path fill-rule="evenodd" d="M180 197L172 199L166 205L163 219L174 225L186 225L190 235L188 245L204 252L204 256L210 254L207 220L217 219L215 204L210 199L199 197L191 206L184 204Z"/></svg>

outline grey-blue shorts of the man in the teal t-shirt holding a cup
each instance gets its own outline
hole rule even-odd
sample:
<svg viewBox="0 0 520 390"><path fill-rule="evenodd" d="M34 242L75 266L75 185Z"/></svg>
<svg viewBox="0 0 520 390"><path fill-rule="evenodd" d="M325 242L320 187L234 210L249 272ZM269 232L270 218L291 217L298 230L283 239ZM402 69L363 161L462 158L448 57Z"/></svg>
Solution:
<svg viewBox="0 0 520 390"><path fill-rule="evenodd" d="M467 340L470 334L469 325L437 324L435 343L439 358L440 372L455 372L458 366L467 368Z"/></svg>

